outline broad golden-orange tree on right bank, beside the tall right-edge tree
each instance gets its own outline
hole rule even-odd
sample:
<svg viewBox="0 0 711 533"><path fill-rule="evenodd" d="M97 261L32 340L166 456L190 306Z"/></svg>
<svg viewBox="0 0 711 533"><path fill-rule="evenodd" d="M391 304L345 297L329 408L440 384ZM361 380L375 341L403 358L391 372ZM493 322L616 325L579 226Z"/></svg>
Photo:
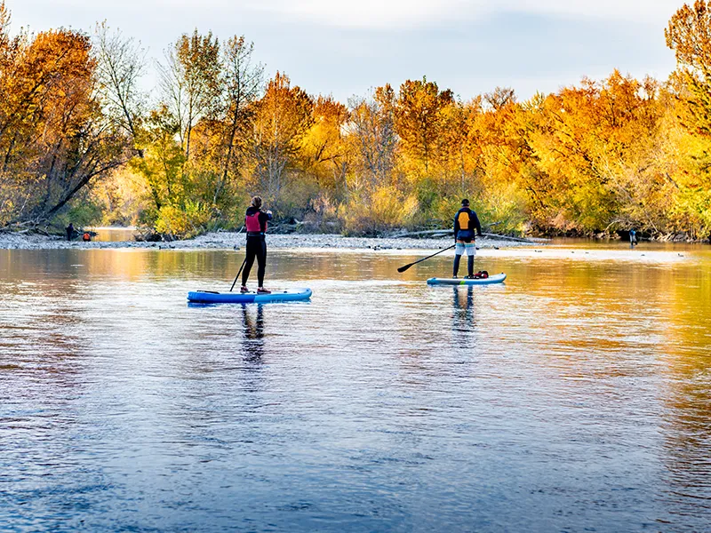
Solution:
<svg viewBox="0 0 711 533"><path fill-rule="evenodd" d="M615 71L603 83L584 80L545 99L526 134L540 171L532 190L546 206L543 225L580 232L654 226L647 201L664 185L652 164L656 92L651 80Z"/></svg>

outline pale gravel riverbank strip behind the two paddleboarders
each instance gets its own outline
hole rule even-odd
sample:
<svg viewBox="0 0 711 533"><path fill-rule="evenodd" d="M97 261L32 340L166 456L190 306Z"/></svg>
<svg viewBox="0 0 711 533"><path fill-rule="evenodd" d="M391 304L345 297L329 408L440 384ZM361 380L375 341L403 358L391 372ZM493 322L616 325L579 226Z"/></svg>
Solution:
<svg viewBox="0 0 711 533"><path fill-rule="evenodd" d="M244 234L234 232L216 232L200 235L195 239L173 241L172 243L138 243L135 241L84 243L72 241L69 243L60 237L44 235L19 235L0 233L0 249L5 250L60 250L60 249L116 249L139 248L160 250L234 250L244 246ZM480 248L513 248L545 243L545 239L535 239L535 243L519 243L504 239L483 237L477 240ZM342 235L267 235L267 244L271 249L277 248L322 248L345 250L440 250L452 244L451 237L437 239L413 238L364 238L344 237Z"/></svg>

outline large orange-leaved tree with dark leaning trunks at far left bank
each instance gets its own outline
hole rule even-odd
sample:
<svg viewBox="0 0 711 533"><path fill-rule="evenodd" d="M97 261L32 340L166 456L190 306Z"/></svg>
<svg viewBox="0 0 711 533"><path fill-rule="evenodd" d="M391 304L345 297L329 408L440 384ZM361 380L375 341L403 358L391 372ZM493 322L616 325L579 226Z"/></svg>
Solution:
<svg viewBox="0 0 711 533"><path fill-rule="evenodd" d="M0 217L46 221L123 164L127 143L101 113L90 39L67 29L8 39L0 8Z"/></svg>

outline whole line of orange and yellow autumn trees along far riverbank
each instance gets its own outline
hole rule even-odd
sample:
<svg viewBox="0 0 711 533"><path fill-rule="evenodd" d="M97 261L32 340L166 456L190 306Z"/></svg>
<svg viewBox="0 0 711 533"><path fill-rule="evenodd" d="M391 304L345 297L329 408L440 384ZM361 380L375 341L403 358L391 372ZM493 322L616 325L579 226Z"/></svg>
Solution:
<svg viewBox="0 0 711 533"><path fill-rule="evenodd" d="M139 223L181 237L277 219L371 234L450 224L461 197L499 229L711 233L711 2L684 5L666 81L618 71L519 101L408 80L339 102L244 36L178 38L156 64L105 24L12 35L0 4L0 226ZM661 38L661 36L660 36Z"/></svg>

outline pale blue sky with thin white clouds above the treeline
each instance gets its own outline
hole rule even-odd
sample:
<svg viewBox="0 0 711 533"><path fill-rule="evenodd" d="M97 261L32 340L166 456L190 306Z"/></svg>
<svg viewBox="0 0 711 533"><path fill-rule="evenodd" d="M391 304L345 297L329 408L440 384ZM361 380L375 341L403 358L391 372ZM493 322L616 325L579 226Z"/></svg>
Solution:
<svg viewBox="0 0 711 533"><path fill-rule="evenodd" d="M689 0L691 1L691 0ZM513 87L519 99L614 68L666 79L664 28L681 0L5 0L12 29L111 28L148 56L183 33L244 35L266 72L346 102L371 87L435 81L461 99ZM148 76L144 84L153 84Z"/></svg>

